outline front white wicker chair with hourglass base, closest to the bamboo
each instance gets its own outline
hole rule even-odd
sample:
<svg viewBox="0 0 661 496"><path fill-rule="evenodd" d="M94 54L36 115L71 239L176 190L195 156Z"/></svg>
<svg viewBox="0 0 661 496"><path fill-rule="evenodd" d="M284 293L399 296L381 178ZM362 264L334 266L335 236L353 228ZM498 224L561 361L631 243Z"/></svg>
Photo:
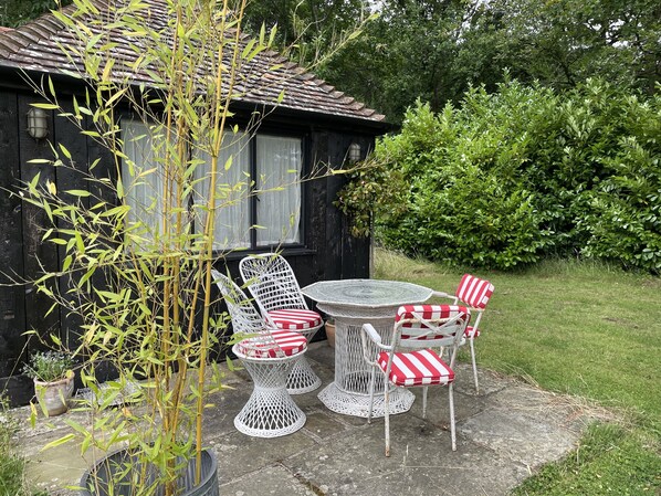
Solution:
<svg viewBox="0 0 661 496"><path fill-rule="evenodd" d="M230 312L233 331L249 336L232 347L254 382L234 426L256 437L296 432L306 418L287 392L286 380L293 365L304 356L307 341L298 333L270 328L239 286L218 271L212 274Z"/></svg>

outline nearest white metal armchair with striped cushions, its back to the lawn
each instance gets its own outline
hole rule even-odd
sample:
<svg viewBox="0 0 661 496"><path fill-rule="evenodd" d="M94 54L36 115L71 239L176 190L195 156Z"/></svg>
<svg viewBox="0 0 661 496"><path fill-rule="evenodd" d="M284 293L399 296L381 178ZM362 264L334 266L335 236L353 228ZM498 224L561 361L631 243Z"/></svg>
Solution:
<svg viewBox="0 0 661 496"><path fill-rule="evenodd" d="M454 429L454 359L457 349L470 320L468 308L457 305L403 305L397 310L390 345L385 345L371 324L363 326L365 360L371 365L369 413L371 422L374 384L377 370L385 377L386 456L390 456L389 392L394 387L422 387L422 416L427 418L427 388L448 386L450 403L450 432L452 451L457 450ZM371 341L371 342L370 342ZM375 348L376 347L376 348ZM436 348L450 349L450 363L445 363ZM376 349L376 351L375 351Z"/></svg>

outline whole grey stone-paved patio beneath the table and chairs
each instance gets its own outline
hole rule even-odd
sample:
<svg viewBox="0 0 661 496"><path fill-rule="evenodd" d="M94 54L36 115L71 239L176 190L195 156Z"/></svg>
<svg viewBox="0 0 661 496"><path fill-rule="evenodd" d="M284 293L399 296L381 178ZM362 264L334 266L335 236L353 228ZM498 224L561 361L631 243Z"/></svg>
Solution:
<svg viewBox="0 0 661 496"><path fill-rule="evenodd" d="M325 341L307 352L323 386L333 380L334 350ZM468 363L457 367L454 388L458 450L451 451L448 389L430 388L422 418L421 390L409 412L391 416L391 456L384 456L384 420L342 415L318 400L322 390L293 397L307 416L298 432L275 439L250 437L234 429L234 415L252 391L244 371L228 372L231 388L211 395L204 442L218 455L220 494L232 496L424 496L506 495L535 469L566 455L590 421L570 397L552 394L516 379L480 369L475 392ZM29 458L29 477L52 496L70 496L88 466L75 444L41 447L84 423L81 412L40 419L17 434Z"/></svg>

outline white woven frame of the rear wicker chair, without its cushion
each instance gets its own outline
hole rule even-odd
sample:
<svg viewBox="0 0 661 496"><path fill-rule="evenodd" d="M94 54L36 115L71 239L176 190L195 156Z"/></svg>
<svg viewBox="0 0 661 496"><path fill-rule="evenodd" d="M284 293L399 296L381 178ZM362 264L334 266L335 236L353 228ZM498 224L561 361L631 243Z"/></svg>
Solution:
<svg viewBox="0 0 661 496"><path fill-rule="evenodd" d="M277 253L262 253L249 255L239 263L241 277L248 289L260 307L260 312L273 327L275 324L270 319L269 312L280 309L308 309L307 303L301 293L301 286L285 258ZM307 342L323 327L321 325L297 330ZM314 391L322 386L322 380L312 370L305 357L294 363L294 368L287 378L287 390L291 394L303 394Z"/></svg>

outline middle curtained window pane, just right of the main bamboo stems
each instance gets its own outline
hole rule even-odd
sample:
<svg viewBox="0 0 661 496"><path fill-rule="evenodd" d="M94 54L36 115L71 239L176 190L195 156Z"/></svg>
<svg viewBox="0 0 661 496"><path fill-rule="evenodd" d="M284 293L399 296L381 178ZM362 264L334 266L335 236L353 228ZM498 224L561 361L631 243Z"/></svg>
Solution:
<svg viewBox="0 0 661 496"><path fill-rule="evenodd" d="M217 210L213 247L228 250L250 246L250 140L244 133L225 131L222 149L218 156ZM225 165L231 157L231 165ZM206 205L209 200L211 156L196 150L196 158L204 161L196 169L196 203ZM204 222L206 210L196 208L198 231Z"/></svg>

